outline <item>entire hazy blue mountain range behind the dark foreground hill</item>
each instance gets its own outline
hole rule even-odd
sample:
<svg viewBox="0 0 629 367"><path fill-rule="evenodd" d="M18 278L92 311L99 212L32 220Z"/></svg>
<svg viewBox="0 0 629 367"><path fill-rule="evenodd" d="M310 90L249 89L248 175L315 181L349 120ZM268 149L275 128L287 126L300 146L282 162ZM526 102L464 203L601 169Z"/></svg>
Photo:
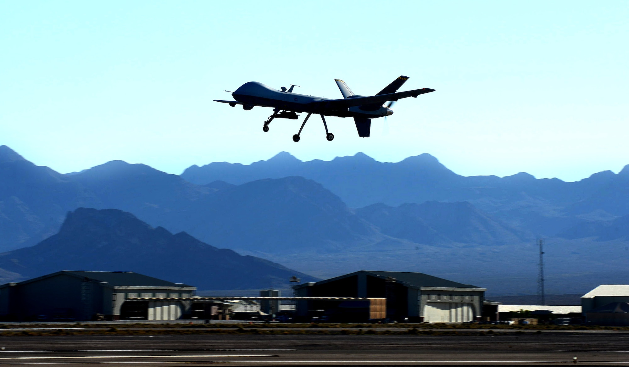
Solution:
<svg viewBox="0 0 629 367"><path fill-rule="evenodd" d="M192 166L181 176L112 161L64 175L0 146L0 250L40 243L77 208L119 209L155 230L320 278L386 268L534 292L540 236L552 244L557 287L576 287L570 279L591 277L603 263L606 282L620 277L615 270L629 260L627 190L628 167L579 182L463 177L427 154L382 163L362 153L329 162L279 153L252 165ZM0 268L6 277L16 271Z"/></svg>

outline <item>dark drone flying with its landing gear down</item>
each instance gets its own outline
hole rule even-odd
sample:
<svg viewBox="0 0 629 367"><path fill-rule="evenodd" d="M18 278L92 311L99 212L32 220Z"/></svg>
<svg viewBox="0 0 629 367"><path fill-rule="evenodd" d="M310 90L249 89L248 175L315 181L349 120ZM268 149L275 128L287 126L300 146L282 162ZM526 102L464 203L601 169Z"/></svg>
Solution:
<svg viewBox="0 0 629 367"><path fill-rule="evenodd" d="M335 80L338 89L341 90L343 99L329 99L293 93L292 89L299 87L299 85L294 84L291 84L290 89L282 87L282 90L277 90L259 82L248 82L231 93L231 96L236 101L221 101L220 99L214 99L214 101L227 103L231 107L241 104L243 109L247 111L252 109L253 106L272 107L273 114L269 116L267 121L264 121L264 126L262 127L264 132L269 131L269 124L273 119L296 120L299 117L298 113L308 112L308 116L301 124L299 132L292 136L292 140L295 142L299 141L299 134L301 134L301 130L304 128L310 115L313 113L319 114L323 120L323 126L325 126L326 138L331 141L334 139L334 134L328 132L328 125L325 123L324 116L352 117L356 124L358 135L363 138L369 138L371 119L391 116L393 114L391 109L393 102L401 98L417 97L420 94L435 91L435 89L423 88L398 92L399 87L408 80L408 77L401 75L375 96L365 97L353 94L343 80ZM384 104L385 102L389 103Z"/></svg>

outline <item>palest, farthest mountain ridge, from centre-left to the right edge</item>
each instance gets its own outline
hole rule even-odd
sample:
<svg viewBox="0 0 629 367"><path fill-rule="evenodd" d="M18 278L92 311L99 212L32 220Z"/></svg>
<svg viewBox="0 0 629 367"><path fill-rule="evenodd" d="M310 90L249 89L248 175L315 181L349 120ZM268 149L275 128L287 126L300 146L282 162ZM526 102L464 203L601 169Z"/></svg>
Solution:
<svg viewBox="0 0 629 367"><path fill-rule="evenodd" d="M537 179L524 172L508 177L464 177L426 153L397 163L383 163L363 153L329 162L301 162L282 152L251 165L193 165L181 177L196 184L214 180L242 184L291 175L320 182L350 207L379 202L397 206L431 200L467 201L510 226L537 236L551 236L593 219L629 214L629 168L618 175L606 171L579 182L564 182L557 178Z"/></svg>

